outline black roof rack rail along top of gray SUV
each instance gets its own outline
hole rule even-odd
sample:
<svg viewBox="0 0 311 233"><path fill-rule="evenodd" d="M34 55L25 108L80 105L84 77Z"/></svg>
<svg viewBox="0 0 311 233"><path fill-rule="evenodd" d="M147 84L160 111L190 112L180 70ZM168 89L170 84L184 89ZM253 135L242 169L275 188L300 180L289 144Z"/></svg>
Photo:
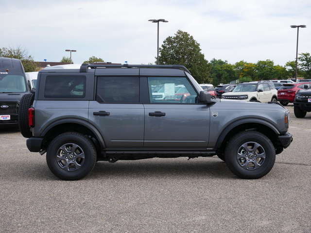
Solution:
<svg viewBox="0 0 311 233"><path fill-rule="evenodd" d="M82 64L80 67L80 72L87 72L87 69L96 68L167 68L167 69L181 69L190 74L190 71L183 65L118 65L118 64Z"/></svg>

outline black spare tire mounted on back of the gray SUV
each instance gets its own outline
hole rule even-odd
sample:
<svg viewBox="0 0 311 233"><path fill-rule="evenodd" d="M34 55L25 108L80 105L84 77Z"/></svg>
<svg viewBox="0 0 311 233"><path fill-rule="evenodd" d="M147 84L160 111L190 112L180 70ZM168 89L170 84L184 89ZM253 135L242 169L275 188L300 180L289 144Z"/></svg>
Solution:
<svg viewBox="0 0 311 233"><path fill-rule="evenodd" d="M29 117L28 117L28 109L31 108L35 100L35 94L25 94L20 99L18 106L18 125L20 129L21 135L26 138L30 138L33 136L33 133L30 131L29 127Z"/></svg>

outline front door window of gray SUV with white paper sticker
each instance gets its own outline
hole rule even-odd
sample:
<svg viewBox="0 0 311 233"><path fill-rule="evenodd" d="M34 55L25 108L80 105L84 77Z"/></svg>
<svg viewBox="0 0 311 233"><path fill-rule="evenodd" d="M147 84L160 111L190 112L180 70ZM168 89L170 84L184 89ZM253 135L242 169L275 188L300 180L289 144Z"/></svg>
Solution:
<svg viewBox="0 0 311 233"><path fill-rule="evenodd" d="M151 103L197 103L197 93L186 77L148 77Z"/></svg>

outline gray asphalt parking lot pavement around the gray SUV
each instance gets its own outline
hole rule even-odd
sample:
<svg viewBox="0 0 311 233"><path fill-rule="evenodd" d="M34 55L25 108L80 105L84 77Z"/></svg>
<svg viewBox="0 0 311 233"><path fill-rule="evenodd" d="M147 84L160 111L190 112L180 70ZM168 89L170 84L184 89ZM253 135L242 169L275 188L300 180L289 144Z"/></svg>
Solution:
<svg viewBox="0 0 311 233"><path fill-rule="evenodd" d="M2 233L310 233L311 113L291 111L291 146L258 180L217 157L98 162L62 181L17 130L0 129Z"/></svg>

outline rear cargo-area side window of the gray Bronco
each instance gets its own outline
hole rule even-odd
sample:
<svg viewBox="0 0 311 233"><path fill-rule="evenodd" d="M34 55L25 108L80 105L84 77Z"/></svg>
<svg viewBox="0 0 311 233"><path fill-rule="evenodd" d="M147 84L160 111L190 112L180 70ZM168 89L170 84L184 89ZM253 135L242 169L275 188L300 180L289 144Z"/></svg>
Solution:
<svg viewBox="0 0 311 233"><path fill-rule="evenodd" d="M45 98L84 98L85 95L86 76L84 75L51 75L46 78Z"/></svg>

